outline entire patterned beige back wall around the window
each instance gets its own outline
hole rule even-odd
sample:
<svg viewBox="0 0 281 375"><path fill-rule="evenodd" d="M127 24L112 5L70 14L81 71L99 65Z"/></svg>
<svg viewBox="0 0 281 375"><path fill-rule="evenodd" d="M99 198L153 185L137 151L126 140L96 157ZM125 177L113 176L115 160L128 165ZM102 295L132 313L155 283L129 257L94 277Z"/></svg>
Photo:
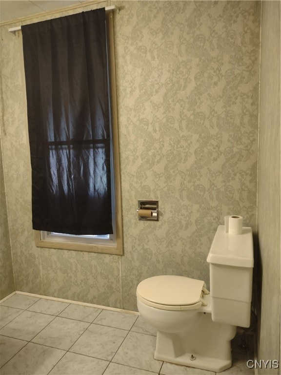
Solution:
<svg viewBox="0 0 281 375"><path fill-rule="evenodd" d="M4 173L17 290L134 310L146 277L208 283L224 215L256 229L260 2L114 4L124 255L34 245L13 25L1 43ZM138 199L159 199L159 222L138 221Z"/></svg>

